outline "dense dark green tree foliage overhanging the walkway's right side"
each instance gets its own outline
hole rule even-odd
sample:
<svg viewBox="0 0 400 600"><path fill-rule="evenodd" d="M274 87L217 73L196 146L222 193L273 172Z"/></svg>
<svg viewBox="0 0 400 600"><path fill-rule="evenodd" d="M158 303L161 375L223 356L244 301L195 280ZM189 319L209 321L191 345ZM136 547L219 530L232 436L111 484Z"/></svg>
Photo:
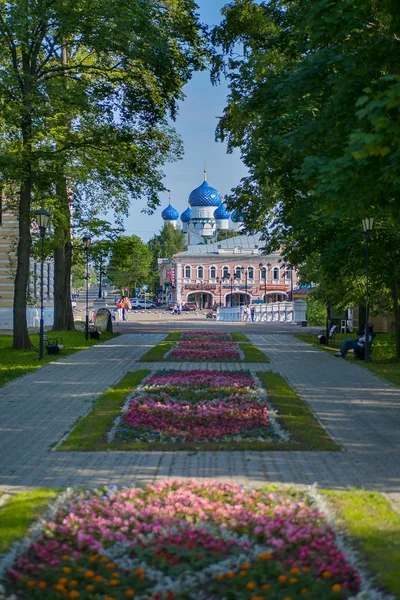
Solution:
<svg viewBox="0 0 400 600"><path fill-rule="evenodd" d="M399 24L390 0L238 0L213 39L230 79L217 135L249 169L229 207L337 305L363 299L374 216L372 290L391 297L400 356Z"/></svg>

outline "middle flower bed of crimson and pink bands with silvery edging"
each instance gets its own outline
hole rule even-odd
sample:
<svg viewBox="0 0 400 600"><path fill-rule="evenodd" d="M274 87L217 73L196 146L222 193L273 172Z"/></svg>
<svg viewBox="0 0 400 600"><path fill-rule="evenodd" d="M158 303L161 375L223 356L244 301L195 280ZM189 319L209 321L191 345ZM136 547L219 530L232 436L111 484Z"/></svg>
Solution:
<svg viewBox="0 0 400 600"><path fill-rule="evenodd" d="M111 439L271 441L277 438L271 416L265 393L249 373L161 372L134 391Z"/></svg>

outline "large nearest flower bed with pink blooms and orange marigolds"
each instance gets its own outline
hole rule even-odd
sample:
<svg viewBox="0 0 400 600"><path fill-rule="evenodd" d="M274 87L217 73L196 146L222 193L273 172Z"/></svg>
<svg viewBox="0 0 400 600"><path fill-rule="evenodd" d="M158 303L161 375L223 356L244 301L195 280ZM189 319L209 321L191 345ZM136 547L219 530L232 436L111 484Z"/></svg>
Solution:
<svg viewBox="0 0 400 600"><path fill-rule="evenodd" d="M306 495L167 480L64 502L5 585L33 600L344 600L360 577Z"/></svg>

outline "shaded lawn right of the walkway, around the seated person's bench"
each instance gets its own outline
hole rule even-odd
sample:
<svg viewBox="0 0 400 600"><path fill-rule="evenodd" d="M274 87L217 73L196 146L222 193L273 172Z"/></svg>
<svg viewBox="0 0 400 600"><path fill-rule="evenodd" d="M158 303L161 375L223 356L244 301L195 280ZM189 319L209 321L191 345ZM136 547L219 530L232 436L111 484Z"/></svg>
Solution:
<svg viewBox="0 0 400 600"><path fill-rule="evenodd" d="M355 333L336 334L333 346L324 346L323 344L320 344L315 334L298 334L297 337L320 350L325 350L326 352L334 354L339 351L340 344L344 339L348 337L357 338L358 336ZM338 358L337 360L342 359ZM352 352L349 352L346 360L349 360L350 362L354 361L354 364L364 367L372 373L375 373L375 375L400 387L400 359L396 357L396 345L393 334L378 333L376 335L372 343L372 362L365 363L363 360L355 360Z"/></svg>

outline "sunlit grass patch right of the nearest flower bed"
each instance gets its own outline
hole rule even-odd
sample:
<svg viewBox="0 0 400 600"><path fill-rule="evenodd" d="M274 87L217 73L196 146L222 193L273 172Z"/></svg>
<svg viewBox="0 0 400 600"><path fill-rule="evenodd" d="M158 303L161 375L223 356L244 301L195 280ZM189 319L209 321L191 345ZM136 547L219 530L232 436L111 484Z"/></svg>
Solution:
<svg viewBox="0 0 400 600"><path fill-rule="evenodd" d="M342 533L386 592L400 598L400 514L381 494L324 490Z"/></svg>

